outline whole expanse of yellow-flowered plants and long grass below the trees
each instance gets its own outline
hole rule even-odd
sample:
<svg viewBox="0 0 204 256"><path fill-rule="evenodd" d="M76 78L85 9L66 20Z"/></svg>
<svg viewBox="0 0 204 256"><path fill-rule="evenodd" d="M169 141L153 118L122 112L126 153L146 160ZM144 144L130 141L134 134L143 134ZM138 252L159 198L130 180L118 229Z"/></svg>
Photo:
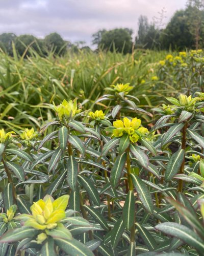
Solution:
<svg viewBox="0 0 204 256"><path fill-rule="evenodd" d="M56 36L0 53L0 255L203 255L204 52Z"/></svg>

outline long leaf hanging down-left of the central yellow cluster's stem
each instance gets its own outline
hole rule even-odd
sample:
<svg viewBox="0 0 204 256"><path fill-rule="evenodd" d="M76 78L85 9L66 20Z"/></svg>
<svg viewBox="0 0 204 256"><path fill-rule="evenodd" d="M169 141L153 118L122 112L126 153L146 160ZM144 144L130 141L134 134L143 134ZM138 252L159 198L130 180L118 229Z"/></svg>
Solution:
<svg viewBox="0 0 204 256"><path fill-rule="evenodd" d="M122 171L126 162L126 155L127 154L124 152L122 155L118 156L111 169L110 182L113 188L117 187L120 177L122 175Z"/></svg>

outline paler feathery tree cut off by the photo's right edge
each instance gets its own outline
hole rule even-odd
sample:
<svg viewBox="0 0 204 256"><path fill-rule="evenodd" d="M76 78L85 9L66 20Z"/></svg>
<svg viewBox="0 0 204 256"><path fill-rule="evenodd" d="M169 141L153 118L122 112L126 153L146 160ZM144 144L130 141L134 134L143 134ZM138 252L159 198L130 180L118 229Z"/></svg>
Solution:
<svg viewBox="0 0 204 256"><path fill-rule="evenodd" d="M194 37L196 50L199 48L201 33L204 25L204 0L188 0L186 13L188 16L189 31Z"/></svg>

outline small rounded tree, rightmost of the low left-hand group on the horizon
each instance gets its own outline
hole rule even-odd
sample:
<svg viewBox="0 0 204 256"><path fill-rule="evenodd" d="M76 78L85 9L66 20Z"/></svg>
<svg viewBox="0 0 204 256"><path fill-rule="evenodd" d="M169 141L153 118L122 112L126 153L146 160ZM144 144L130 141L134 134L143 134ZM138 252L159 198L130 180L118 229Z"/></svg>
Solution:
<svg viewBox="0 0 204 256"><path fill-rule="evenodd" d="M59 55L66 53L66 42L58 33L51 33L45 36L44 41L48 51L54 51Z"/></svg>

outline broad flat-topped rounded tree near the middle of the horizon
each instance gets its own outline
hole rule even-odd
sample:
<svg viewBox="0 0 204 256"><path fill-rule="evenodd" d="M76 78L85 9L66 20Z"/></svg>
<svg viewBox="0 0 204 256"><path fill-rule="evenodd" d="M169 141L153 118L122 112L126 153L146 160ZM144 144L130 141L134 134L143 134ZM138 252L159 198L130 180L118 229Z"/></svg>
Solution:
<svg viewBox="0 0 204 256"><path fill-rule="evenodd" d="M129 53L133 45L131 34L132 30L122 28L106 31L101 34L98 47L111 52Z"/></svg>

